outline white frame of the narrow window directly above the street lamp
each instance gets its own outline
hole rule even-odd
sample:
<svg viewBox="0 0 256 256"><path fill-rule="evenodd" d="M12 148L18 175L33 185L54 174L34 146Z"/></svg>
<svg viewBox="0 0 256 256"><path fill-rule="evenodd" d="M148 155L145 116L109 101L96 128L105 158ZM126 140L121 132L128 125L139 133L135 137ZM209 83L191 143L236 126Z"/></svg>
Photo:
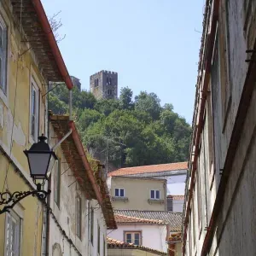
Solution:
<svg viewBox="0 0 256 256"><path fill-rule="evenodd" d="M35 120L35 134L32 135L32 92L33 90L36 92L36 100L35 100L35 115L36 115L36 120ZM39 134L39 113L40 113L40 101L39 101L39 87L38 83L36 80L31 76L31 81L30 81L30 104L29 104L29 138L30 138L30 143L35 143L38 140L38 134Z"/></svg>

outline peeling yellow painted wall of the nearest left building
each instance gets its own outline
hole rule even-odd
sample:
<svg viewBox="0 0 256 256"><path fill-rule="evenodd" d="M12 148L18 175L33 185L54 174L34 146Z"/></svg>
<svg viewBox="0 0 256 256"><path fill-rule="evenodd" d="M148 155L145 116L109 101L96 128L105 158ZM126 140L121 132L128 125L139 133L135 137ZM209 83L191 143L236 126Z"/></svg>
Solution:
<svg viewBox="0 0 256 256"><path fill-rule="evenodd" d="M28 44L21 43L22 38L18 26L14 26L9 1L0 3L0 15L8 27L8 73L7 73L7 94L4 95L0 89L0 145L1 150L15 162L25 177L29 178L25 149L30 148L30 91L31 76L36 79L40 96L40 120L39 133L44 133L45 119L45 80L38 70L34 54L28 49ZM24 53L26 51L26 53ZM24 55L19 56L19 53ZM20 177L15 171L13 163L0 154L0 191L30 190L26 180ZM2 209L3 206L0 206ZM37 197L28 196L19 204L22 209L22 236L20 255L41 255L43 206L38 202ZM4 255L5 247L5 214L0 215L0 255Z"/></svg>

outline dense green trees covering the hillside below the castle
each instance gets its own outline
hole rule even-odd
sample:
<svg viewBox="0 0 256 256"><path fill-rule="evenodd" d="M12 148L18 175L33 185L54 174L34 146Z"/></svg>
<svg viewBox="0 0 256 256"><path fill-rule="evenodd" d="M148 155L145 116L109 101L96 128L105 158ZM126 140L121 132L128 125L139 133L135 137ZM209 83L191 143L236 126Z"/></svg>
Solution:
<svg viewBox="0 0 256 256"><path fill-rule="evenodd" d="M119 100L96 100L87 91L73 90L73 119L84 146L116 167L144 166L187 160L191 127L173 111L160 105L154 93L132 95L122 88ZM66 87L49 93L49 109L68 112Z"/></svg>

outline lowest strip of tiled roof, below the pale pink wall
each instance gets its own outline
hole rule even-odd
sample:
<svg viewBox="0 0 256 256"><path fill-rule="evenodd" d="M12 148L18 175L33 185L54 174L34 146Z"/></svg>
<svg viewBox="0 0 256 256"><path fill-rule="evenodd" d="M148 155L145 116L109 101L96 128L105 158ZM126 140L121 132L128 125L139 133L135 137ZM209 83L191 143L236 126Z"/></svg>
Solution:
<svg viewBox="0 0 256 256"><path fill-rule="evenodd" d="M155 253L157 255L167 255L167 253L159 251L159 250L155 250L155 249L152 249L149 247L137 246L133 243L115 240L110 237L107 237L107 242L108 242L108 248L137 249L137 250L142 250L142 251L146 251L146 252L150 252L150 253Z"/></svg>

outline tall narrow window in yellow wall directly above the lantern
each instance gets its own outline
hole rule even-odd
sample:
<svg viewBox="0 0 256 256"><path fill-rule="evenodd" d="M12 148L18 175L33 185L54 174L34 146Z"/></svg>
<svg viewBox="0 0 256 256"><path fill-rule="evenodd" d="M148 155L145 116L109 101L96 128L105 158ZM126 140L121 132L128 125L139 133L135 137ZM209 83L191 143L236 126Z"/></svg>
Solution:
<svg viewBox="0 0 256 256"><path fill-rule="evenodd" d="M38 85L32 79L31 83L31 103L30 103L30 134L34 141L38 138L39 127L39 96Z"/></svg>

